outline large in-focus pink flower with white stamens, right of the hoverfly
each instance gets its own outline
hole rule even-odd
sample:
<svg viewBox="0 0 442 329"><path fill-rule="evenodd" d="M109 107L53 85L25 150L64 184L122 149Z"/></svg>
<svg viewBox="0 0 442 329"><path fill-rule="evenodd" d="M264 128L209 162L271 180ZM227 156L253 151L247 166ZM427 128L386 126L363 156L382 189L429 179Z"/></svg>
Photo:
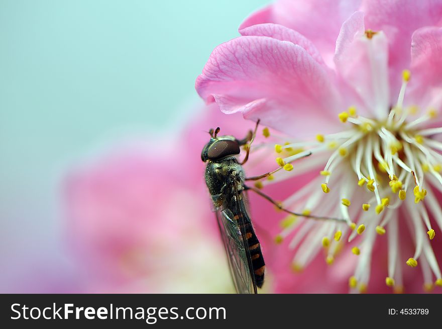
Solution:
<svg viewBox="0 0 442 329"><path fill-rule="evenodd" d="M277 292L442 286L441 26L442 1L281 0L210 55L207 103L286 133L273 137L283 163L312 154L263 186L345 220L282 223Z"/></svg>

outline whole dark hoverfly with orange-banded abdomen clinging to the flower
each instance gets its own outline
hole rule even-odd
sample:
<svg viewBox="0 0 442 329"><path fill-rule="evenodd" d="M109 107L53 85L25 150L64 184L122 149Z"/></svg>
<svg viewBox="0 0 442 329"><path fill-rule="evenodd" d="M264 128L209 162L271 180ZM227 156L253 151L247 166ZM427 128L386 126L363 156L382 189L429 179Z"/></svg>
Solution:
<svg viewBox="0 0 442 329"><path fill-rule="evenodd" d="M201 152L201 159L206 162L205 182L211 195L218 227L226 249L230 271L237 293L257 293L257 287L264 283L265 262L261 245L255 234L248 209L247 190L252 190L275 204L281 210L297 216L314 219L344 219L304 215L282 208L269 196L254 187L245 185L245 181L259 180L276 171L261 176L246 178L242 167L248 158L250 145L255 131L249 131L246 138L239 140L234 136L218 136L219 127L210 129L210 140ZM246 145L246 156L238 162L240 146Z"/></svg>

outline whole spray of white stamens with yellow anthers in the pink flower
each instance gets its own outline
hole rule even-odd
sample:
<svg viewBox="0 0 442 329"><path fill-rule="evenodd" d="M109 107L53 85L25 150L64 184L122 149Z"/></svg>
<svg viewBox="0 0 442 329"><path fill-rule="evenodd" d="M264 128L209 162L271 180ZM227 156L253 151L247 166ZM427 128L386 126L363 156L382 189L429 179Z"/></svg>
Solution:
<svg viewBox="0 0 442 329"><path fill-rule="evenodd" d="M431 271L437 278L436 284L442 284L431 245L428 239L424 239L426 234L430 240L435 236L427 208L436 219L442 218L436 197L432 193L427 194L424 185L425 181L429 181L442 191L442 155L438 152L442 150L442 143L431 138L434 134L442 133L442 128L421 128L423 123L435 117L435 110L416 118L417 106L403 106L410 72L404 70L402 77L397 103L383 120L360 116L356 107L352 106L338 115L342 123L352 124L349 129L328 135L318 134L314 141L275 145L275 151L281 155L285 152L286 156L276 159L279 168L274 172L284 169L291 172L289 176L300 176L318 168L320 174L284 200L282 205L296 212L346 220L346 223L324 221L318 224L314 220L297 220L293 216L284 219L281 222L282 231L275 241L282 243L296 231L289 242L289 248L296 250L294 270L306 266L321 247L326 250L326 262L332 264L342 249L342 236L348 235L348 242L354 243L354 240L360 241L356 238L367 231L360 244L354 244L351 248L360 261L349 285L355 288L358 284L363 291L370 276L376 235L384 235L388 226L389 266L386 284L400 287L398 222L402 218L397 211L386 209L398 209L404 204L416 247L413 257L405 263L416 267L421 257L419 262L423 263L426 284L431 285ZM296 162L294 167L291 164L310 154L312 156ZM271 178L272 181L281 181L286 179L287 176L284 176ZM259 187L262 188L265 183L259 182ZM318 189L319 185L321 189ZM414 200L407 197L411 192ZM421 202L424 199L425 206Z"/></svg>

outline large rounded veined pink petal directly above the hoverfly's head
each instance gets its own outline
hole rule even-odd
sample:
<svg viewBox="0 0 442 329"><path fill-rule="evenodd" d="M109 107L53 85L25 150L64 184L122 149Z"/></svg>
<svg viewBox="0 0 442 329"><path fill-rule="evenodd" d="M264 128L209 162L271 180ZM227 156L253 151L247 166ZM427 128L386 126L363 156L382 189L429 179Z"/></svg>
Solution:
<svg viewBox="0 0 442 329"><path fill-rule="evenodd" d="M219 45L195 88L225 113L242 112L292 135L317 133L312 127L334 131L330 122L338 121L333 113L340 104L327 70L287 41L243 36ZM305 112L309 115L299 120Z"/></svg>

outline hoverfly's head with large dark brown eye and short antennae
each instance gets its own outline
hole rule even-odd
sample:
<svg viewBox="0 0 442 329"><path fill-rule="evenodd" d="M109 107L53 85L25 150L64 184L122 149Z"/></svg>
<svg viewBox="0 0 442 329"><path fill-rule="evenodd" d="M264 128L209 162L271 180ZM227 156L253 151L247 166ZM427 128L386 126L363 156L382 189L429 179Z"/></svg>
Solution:
<svg viewBox="0 0 442 329"><path fill-rule="evenodd" d="M219 161L240 154L240 141L233 136L217 136L219 127L210 129L210 140L201 152L201 160Z"/></svg>

